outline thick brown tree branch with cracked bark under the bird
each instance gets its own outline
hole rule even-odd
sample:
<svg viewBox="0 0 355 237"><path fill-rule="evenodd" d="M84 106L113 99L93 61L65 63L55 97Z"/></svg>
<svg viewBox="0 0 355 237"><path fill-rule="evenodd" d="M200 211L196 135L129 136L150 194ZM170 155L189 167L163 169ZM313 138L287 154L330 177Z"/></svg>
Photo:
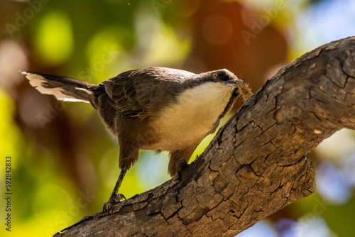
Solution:
<svg viewBox="0 0 355 237"><path fill-rule="evenodd" d="M87 216L55 236L235 236L315 191L307 153L355 129L355 38L281 68L219 130L180 182Z"/></svg>

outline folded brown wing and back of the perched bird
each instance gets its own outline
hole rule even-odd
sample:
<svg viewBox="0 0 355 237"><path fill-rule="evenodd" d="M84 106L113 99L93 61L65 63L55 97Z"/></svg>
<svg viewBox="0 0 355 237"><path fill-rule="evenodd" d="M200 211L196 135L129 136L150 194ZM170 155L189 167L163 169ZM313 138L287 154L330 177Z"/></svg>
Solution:
<svg viewBox="0 0 355 237"><path fill-rule="evenodd" d="M180 79L184 80L188 76L186 73L194 75L182 70L150 67L123 72L102 84L111 106L121 116L150 116L153 108L159 106L159 101L170 100L173 94L178 93L179 89L174 84L177 85Z"/></svg>

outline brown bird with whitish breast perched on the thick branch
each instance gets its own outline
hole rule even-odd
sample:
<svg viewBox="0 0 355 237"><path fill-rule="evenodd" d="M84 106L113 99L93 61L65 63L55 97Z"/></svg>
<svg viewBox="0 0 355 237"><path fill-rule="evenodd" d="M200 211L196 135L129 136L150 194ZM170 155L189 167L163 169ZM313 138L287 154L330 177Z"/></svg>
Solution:
<svg viewBox="0 0 355 237"><path fill-rule="evenodd" d="M203 138L241 94L243 84L226 69L195 74L168 67L129 70L99 84L42 72L21 71L32 87L61 101L92 104L118 138L121 172L103 211L112 213L119 187L139 150L169 152L168 173L180 172ZM118 199L118 201L117 201Z"/></svg>

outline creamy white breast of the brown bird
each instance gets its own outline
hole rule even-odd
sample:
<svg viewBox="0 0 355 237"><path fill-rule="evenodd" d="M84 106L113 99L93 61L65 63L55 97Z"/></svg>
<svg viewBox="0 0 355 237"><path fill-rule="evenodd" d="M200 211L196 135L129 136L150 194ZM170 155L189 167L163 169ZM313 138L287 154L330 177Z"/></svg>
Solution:
<svg viewBox="0 0 355 237"><path fill-rule="evenodd" d="M185 90L160 111L152 124L160 138L154 149L179 150L198 144L216 124L233 87L208 82Z"/></svg>

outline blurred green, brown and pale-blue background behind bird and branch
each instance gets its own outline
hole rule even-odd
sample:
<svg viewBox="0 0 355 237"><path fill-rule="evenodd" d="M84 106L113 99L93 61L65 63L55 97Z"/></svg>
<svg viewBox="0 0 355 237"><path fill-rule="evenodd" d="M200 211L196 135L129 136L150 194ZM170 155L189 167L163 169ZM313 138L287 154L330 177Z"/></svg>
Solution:
<svg viewBox="0 0 355 237"><path fill-rule="evenodd" d="M92 106L42 95L19 70L97 84L149 66L227 68L256 92L296 57L351 35L352 0L0 0L0 236L52 236L101 211L119 175L117 141ZM354 131L335 133L310 156L317 192L239 236L354 236ZM163 183L167 166L166 153L142 151L120 191L131 197Z"/></svg>

